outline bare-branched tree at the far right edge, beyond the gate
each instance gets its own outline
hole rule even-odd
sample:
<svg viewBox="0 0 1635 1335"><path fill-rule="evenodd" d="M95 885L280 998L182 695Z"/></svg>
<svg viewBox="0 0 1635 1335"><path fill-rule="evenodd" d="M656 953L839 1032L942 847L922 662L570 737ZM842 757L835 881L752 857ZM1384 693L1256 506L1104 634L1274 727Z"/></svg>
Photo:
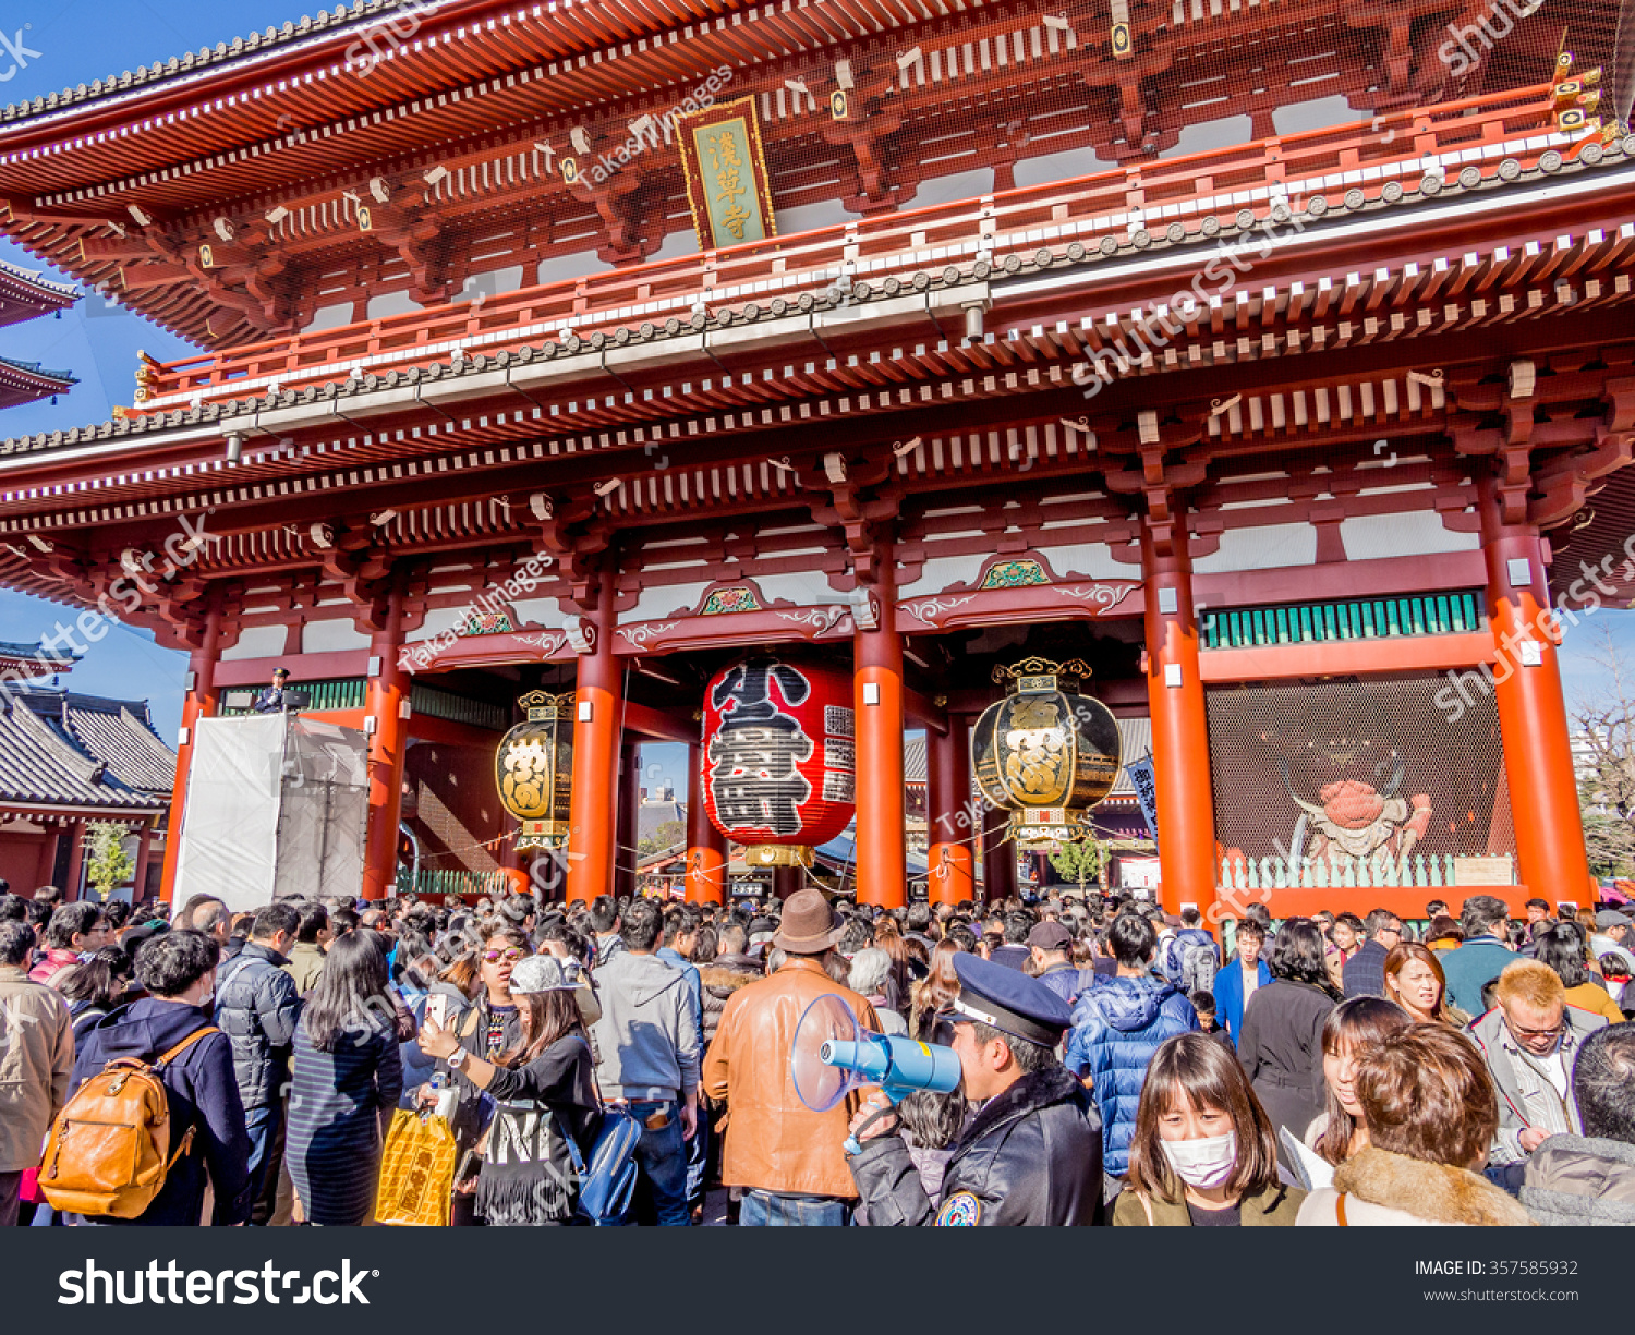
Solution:
<svg viewBox="0 0 1635 1335"><path fill-rule="evenodd" d="M1568 709L1578 801L1589 866L1599 876L1635 874L1635 665L1599 626L1588 659L1601 685Z"/></svg>

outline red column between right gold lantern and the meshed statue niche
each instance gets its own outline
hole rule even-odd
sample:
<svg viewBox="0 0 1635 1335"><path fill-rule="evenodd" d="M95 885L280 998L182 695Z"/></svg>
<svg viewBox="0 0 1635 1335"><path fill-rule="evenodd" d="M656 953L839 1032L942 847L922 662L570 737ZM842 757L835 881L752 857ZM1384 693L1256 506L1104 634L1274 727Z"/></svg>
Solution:
<svg viewBox="0 0 1635 1335"><path fill-rule="evenodd" d="M1141 525L1158 863L1164 907L1174 913L1182 904L1207 912L1215 902L1215 801L1184 523L1176 521L1172 533L1166 554L1153 539L1151 521Z"/></svg>

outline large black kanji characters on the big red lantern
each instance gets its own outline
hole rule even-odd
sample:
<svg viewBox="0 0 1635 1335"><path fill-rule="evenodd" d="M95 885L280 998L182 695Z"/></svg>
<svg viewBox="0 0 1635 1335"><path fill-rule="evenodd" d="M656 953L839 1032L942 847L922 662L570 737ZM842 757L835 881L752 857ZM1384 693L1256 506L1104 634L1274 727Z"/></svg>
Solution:
<svg viewBox="0 0 1635 1335"><path fill-rule="evenodd" d="M801 804L813 786L800 771L813 757L813 740L801 721L772 698L801 704L811 685L788 663L741 663L721 678L710 703L721 716L710 739L710 796L716 819L728 830L801 832Z"/></svg>

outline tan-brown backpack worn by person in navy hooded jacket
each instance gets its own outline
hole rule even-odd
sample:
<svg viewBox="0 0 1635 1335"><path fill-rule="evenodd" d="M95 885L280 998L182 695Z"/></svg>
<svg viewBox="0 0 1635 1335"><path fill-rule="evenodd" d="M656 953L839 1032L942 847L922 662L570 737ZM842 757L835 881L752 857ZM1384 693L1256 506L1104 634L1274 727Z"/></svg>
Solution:
<svg viewBox="0 0 1635 1335"><path fill-rule="evenodd" d="M39 1190L65 1214L136 1219L193 1144L188 1127L170 1152L170 1100L164 1070L214 1025L188 1034L152 1065L136 1057L108 1062L74 1092L57 1114L39 1165Z"/></svg>

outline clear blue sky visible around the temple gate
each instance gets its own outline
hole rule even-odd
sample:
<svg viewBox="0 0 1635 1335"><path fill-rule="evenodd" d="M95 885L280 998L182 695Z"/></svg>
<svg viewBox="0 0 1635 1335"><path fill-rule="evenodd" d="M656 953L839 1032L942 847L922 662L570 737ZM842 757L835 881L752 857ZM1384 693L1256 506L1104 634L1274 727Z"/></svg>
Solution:
<svg viewBox="0 0 1635 1335"><path fill-rule="evenodd" d="M231 41L268 25L281 26L320 5L322 0L235 0L232 5L208 0L168 0L164 5L147 0L67 0L11 7L0 28L15 39L18 20L26 16L21 44L39 56L26 57L26 65L15 67L10 78L0 78L0 103L118 75L139 64ZM3 64L13 64L10 56L0 54ZM0 258L39 268L26 252L8 242L0 242ZM196 351L95 294L59 320L33 320L0 330L0 356L38 361L80 377L80 384L56 405L47 400L0 413L0 435L20 436L106 420L114 404L131 402L139 348L160 361ZM34 641L51 634L62 614L64 608L44 600L0 592L0 641ZM1563 652L1570 698L1596 688L1597 672L1586 650L1594 649L1592 637L1599 627L1610 629L1614 641L1635 659L1635 613L1602 611L1586 619L1568 631ZM159 730L173 740L181 717L185 672L183 654L160 649L147 631L116 626L64 681L95 694L149 699ZM675 783L683 788L680 748L644 748L644 768L649 786Z"/></svg>

